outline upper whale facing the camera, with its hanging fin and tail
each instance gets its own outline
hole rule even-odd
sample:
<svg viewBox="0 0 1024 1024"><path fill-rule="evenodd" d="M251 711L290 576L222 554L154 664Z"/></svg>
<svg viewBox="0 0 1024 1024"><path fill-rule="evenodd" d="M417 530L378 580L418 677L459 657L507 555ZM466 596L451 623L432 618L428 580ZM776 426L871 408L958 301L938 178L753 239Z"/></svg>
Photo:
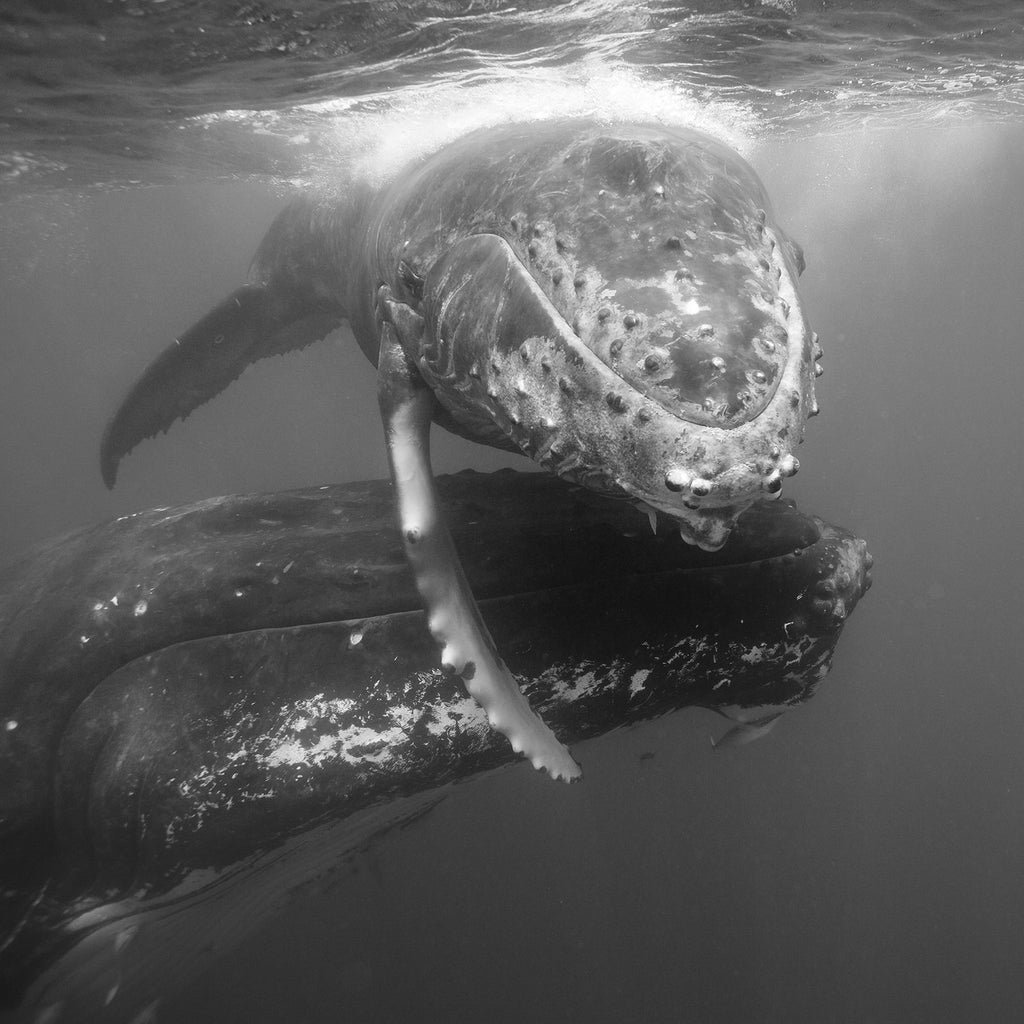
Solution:
<svg viewBox="0 0 1024 1024"><path fill-rule="evenodd" d="M538 768L580 768L495 649L443 524L431 421L676 520L721 547L797 471L817 411L803 258L764 187L700 132L584 120L482 129L374 195L285 210L239 289L146 370L110 423L139 440L250 362L347 318L378 367L407 556L443 666Z"/></svg>

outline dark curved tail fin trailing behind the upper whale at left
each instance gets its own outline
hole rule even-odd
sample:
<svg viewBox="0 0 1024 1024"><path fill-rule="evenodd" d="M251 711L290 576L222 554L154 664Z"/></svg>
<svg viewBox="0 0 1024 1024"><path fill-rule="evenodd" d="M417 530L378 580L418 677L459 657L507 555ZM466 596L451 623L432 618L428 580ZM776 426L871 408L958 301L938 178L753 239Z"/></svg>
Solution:
<svg viewBox="0 0 1024 1024"><path fill-rule="evenodd" d="M113 487L118 464L146 437L218 395L246 367L304 348L341 324L342 311L305 291L248 285L232 292L150 364L103 432L99 466Z"/></svg>

